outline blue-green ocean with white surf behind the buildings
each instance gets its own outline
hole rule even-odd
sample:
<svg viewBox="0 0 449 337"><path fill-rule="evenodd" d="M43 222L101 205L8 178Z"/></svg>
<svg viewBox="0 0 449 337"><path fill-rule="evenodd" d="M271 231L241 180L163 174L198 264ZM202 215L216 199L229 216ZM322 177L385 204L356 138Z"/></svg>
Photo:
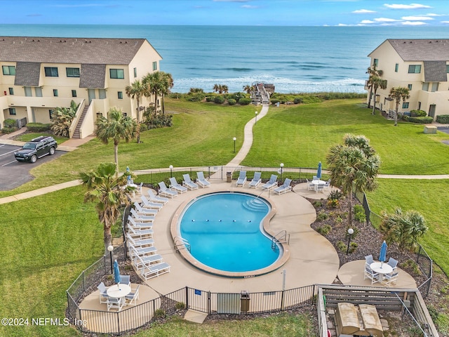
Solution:
<svg viewBox="0 0 449 337"><path fill-rule="evenodd" d="M448 39L447 27L0 25L0 35L145 38L173 92L229 92L263 81L279 93L364 93L368 54L385 39Z"/></svg>

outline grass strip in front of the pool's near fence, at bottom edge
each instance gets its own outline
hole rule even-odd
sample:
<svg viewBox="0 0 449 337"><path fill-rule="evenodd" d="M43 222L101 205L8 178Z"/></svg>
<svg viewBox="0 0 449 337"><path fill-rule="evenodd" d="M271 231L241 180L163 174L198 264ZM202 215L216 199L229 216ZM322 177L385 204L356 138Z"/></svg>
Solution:
<svg viewBox="0 0 449 337"><path fill-rule="evenodd" d="M170 317L168 322L153 324L151 329L137 333L136 337L187 337L187 336L319 336L309 315L288 315L256 318L250 320L232 319L196 324L180 317Z"/></svg>

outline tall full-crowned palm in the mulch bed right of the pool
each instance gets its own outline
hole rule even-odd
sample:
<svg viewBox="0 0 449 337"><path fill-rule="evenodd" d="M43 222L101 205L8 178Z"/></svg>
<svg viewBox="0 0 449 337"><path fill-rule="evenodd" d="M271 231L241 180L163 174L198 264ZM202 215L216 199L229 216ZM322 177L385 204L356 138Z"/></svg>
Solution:
<svg viewBox="0 0 449 337"><path fill-rule="evenodd" d="M345 135L344 144L330 147L326 157L330 180L349 200L348 225L352 226L352 194L375 190L380 157L365 136Z"/></svg>

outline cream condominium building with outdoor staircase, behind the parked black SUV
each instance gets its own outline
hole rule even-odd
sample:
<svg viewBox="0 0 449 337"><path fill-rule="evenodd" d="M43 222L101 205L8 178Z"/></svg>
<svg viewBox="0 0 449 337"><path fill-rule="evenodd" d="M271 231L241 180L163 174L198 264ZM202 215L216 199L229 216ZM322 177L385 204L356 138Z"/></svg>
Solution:
<svg viewBox="0 0 449 337"><path fill-rule="evenodd" d="M161 59L146 39L0 37L0 127L10 118L50 123L52 110L71 100L80 104L72 124L80 138L110 107L136 118L125 88L159 71Z"/></svg>

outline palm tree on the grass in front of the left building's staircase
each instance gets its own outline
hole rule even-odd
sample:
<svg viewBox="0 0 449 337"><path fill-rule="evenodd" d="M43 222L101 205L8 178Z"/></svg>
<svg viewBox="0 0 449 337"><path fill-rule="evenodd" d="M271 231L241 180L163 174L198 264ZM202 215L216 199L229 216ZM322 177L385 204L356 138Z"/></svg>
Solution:
<svg viewBox="0 0 449 337"><path fill-rule="evenodd" d="M97 131L95 134L102 143L109 143L109 138L114 140L114 160L116 171L119 173L119 143L121 139L128 143L138 132L138 124L131 117L123 115L116 107L109 109L107 118L101 116L97 119Z"/></svg>

